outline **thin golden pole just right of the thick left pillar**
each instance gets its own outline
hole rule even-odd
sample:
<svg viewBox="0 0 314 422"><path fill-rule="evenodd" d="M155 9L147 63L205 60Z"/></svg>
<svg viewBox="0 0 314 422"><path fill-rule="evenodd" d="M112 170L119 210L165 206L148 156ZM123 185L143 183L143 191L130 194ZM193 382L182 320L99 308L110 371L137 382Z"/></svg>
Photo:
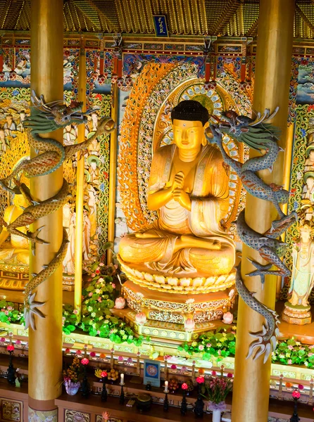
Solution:
<svg viewBox="0 0 314 422"><path fill-rule="evenodd" d="M80 49L79 80L78 80L78 101L82 101L82 111L86 110L86 58L83 40ZM85 126L80 124L77 133L77 142L85 139ZM82 307L82 261L83 261L83 205L84 205L84 155L77 156L76 172L76 222L75 222L75 287L74 306L79 311L77 319L81 319Z"/></svg>

